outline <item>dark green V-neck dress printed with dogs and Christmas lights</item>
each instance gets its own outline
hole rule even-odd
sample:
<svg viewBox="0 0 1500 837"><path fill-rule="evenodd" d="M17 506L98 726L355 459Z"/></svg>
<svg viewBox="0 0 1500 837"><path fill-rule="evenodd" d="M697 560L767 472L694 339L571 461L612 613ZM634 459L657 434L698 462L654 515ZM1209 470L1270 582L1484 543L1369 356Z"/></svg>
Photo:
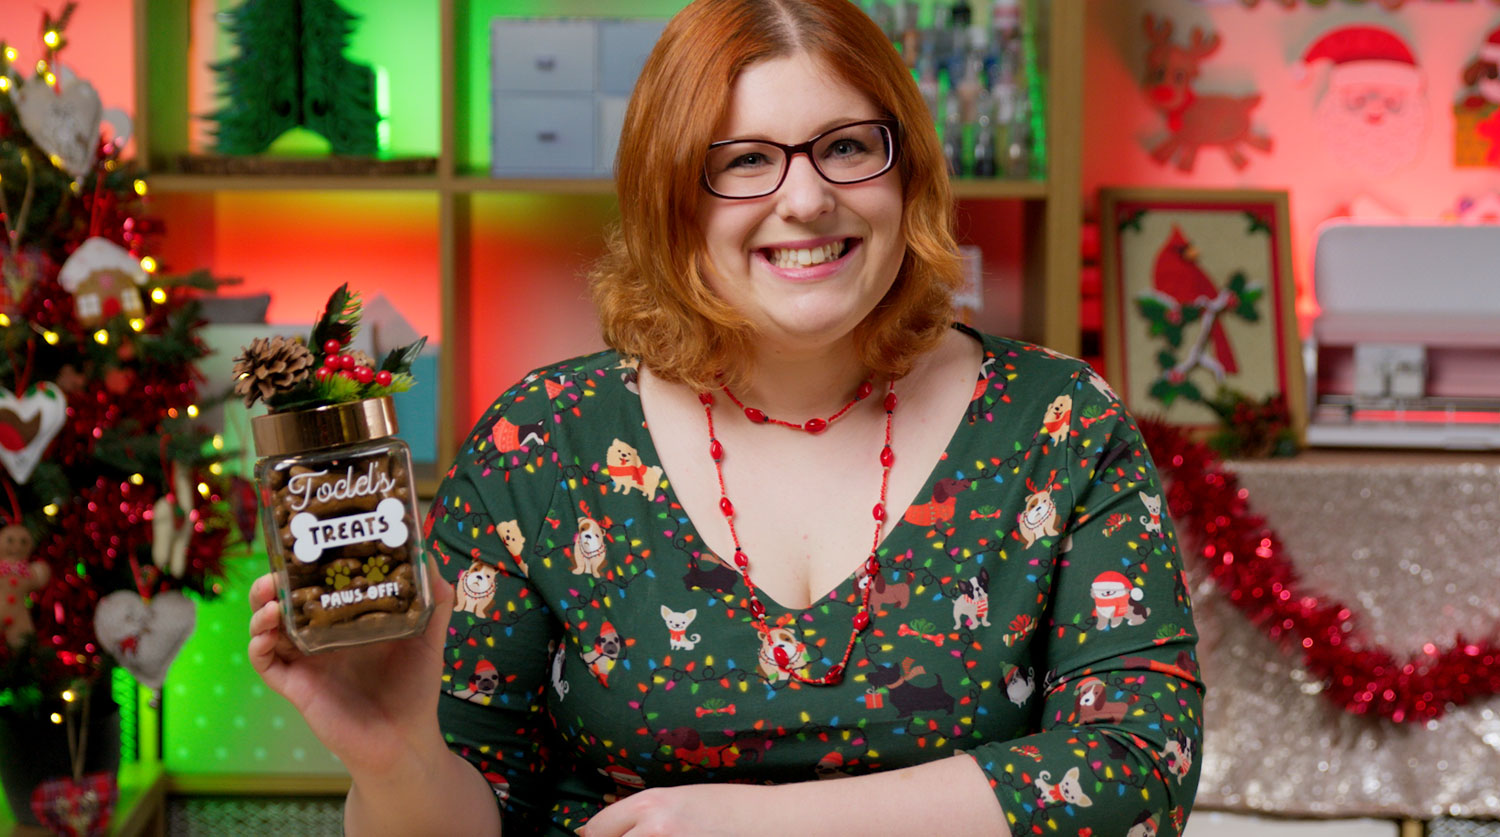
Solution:
<svg viewBox="0 0 1500 837"><path fill-rule="evenodd" d="M572 834L642 788L963 752L1012 834L1180 832L1203 687L1156 470L1086 364L964 333L984 346L974 399L880 543L837 686L776 666L744 580L672 494L633 362L540 369L490 406L428 543L458 588L440 722L507 831ZM860 592L850 573L806 610L762 598L792 666L837 662Z"/></svg>

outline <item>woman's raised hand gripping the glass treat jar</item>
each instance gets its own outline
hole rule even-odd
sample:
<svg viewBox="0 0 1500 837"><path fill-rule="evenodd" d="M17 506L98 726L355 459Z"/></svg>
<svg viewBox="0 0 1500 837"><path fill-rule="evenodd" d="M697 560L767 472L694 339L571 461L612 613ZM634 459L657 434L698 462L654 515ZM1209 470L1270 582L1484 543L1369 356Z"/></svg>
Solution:
<svg viewBox="0 0 1500 837"><path fill-rule="evenodd" d="M422 636L312 656L282 630L276 578L264 574L250 585L250 664L354 774L442 748L438 690L453 586L430 560L428 579L434 610Z"/></svg>

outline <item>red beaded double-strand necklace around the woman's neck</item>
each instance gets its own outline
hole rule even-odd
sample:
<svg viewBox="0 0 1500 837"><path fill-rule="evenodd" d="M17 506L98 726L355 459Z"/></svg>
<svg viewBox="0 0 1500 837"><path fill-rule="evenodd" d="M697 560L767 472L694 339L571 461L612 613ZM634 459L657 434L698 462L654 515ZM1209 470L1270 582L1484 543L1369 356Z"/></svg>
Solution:
<svg viewBox="0 0 1500 837"><path fill-rule="evenodd" d="M844 412L849 411L856 402L873 392L870 381L860 384L860 392L854 396L854 400L846 404L843 410L834 412L826 420L810 418L801 424L794 424L790 422L782 422L768 417L765 412L754 410L753 406L746 406L724 387L724 394L729 400L735 402L736 406L746 411L746 417L758 424L782 424L784 428L794 428L798 430L807 430L810 434L818 434L828 429L828 424L834 423ZM714 459L714 471L718 474L718 510L723 512L724 520L729 522L729 537L735 543L735 566L740 567L740 574L746 579L746 586L750 590L748 606L750 618L754 620L756 630L760 632L762 642L766 642L772 648L772 656L776 658L777 668L786 672L788 676L798 682L806 682L808 686L836 686L843 680L844 668L849 664L849 657L854 654L854 644L860 639L860 633L870 627L870 591L874 588L874 574L880 572L880 562L874 555L876 548L880 544L880 526L885 524L885 489L891 482L891 464L896 462L896 453L891 452L891 417L896 416L896 380L892 378L885 387L885 444L880 447L880 502L874 506L874 538L870 543L870 556L864 560L862 576L858 582L860 586L860 608L854 614L854 632L849 634L849 644L844 645L844 652L837 663L828 666L824 676L807 676L801 672L801 668L792 668L792 657L780 645L770 642L771 628L765 624L765 604L760 603L760 594L750 580L750 558L746 550L740 546L740 532L735 531L735 506L729 502L729 490L724 488L724 446L718 441L718 435L714 434L714 394L699 393L698 399L704 404L704 416L708 417L708 454Z"/></svg>

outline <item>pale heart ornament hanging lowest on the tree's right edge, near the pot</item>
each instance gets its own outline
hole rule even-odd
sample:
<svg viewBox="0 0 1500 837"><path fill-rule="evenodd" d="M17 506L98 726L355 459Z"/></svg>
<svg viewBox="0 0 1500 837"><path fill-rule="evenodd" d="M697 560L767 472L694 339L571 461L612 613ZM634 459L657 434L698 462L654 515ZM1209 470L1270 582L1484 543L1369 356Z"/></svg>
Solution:
<svg viewBox="0 0 1500 837"><path fill-rule="evenodd" d="M141 686L160 688L196 618L196 608L182 592L158 592L147 602L118 590L99 600L94 634Z"/></svg>

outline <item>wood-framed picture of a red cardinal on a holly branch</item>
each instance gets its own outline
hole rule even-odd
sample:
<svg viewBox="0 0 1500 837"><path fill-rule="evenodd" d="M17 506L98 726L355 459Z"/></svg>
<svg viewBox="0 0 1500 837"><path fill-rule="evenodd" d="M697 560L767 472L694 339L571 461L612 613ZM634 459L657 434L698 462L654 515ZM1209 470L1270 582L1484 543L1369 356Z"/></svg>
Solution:
<svg viewBox="0 0 1500 837"><path fill-rule="evenodd" d="M1226 404L1305 426L1287 194L1101 189L1104 362L1137 416L1209 429Z"/></svg>

